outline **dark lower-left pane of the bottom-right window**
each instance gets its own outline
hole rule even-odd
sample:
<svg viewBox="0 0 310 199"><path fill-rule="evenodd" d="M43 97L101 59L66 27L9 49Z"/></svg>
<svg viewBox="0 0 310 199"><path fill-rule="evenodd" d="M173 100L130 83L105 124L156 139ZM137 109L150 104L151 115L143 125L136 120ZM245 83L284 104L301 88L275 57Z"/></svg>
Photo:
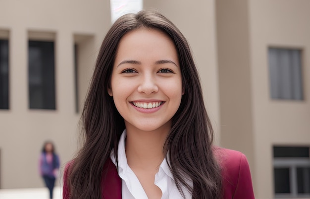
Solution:
<svg viewBox="0 0 310 199"><path fill-rule="evenodd" d="M274 188L276 194L288 194L290 191L290 169L274 169Z"/></svg>

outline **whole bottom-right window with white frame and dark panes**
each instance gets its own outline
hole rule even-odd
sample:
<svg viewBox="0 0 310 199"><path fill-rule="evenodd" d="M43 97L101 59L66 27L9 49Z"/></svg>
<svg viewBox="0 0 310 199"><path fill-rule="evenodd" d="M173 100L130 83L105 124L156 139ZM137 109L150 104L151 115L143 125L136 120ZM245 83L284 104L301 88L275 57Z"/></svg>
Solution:
<svg viewBox="0 0 310 199"><path fill-rule="evenodd" d="M310 197L310 147L273 147L275 198Z"/></svg>

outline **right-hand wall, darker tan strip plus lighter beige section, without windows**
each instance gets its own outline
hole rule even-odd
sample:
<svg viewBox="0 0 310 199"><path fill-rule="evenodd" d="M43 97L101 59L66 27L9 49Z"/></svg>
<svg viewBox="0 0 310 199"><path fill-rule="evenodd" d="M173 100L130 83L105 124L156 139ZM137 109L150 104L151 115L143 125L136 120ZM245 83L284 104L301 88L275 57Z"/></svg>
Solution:
<svg viewBox="0 0 310 199"><path fill-rule="evenodd" d="M249 159L256 198L274 198L273 146L310 146L310 1L216 1L221 145ZM303 101L270 97L268 47L303 50Z"/></svg>

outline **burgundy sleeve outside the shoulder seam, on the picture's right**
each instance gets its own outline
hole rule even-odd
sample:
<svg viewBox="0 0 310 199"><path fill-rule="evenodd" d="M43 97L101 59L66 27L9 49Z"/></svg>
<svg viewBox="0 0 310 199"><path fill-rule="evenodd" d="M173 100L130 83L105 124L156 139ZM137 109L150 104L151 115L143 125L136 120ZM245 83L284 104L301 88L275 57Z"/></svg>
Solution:
<svg viewBox="0 0 310 199"><path fill-rule="evenodd" d="M243 154L240 159L239 176L233 199L255 199L250 166Z"/></svg>

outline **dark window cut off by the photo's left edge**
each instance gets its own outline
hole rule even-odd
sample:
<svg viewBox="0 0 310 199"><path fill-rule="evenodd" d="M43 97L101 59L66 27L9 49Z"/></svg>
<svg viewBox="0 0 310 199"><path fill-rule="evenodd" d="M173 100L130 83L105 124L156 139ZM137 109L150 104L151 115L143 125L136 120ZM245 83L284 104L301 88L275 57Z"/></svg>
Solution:
<svg viewBox="0 0 310 199"><path fill-rule="evenodd" d="M0 40L0 109L8 108L8 40Z"/></svg>

